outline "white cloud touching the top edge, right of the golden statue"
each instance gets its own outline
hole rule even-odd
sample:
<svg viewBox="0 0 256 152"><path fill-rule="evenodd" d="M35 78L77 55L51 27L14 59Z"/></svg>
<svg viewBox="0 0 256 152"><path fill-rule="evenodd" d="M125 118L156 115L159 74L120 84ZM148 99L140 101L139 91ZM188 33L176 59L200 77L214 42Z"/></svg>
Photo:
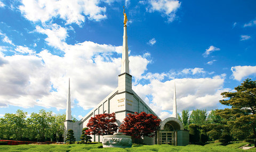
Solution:
<svg viewBox="0 0 256 152"><path fill-rule="evenodd" d="M176 17L181 2L174 0L149 0L149 12L158 11L167 16L168 21L172 22Z"/></svg>

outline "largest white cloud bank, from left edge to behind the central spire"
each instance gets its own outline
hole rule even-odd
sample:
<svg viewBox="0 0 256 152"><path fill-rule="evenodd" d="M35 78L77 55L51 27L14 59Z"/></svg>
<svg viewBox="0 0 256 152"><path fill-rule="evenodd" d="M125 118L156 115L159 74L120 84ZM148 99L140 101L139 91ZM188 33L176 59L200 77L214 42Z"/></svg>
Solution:
<svg viewBox="0 0 256 152"><path fill-rule="evenodd" d="M65 109L69 77L71 105L74 106L76 99L78 106L84 109L93 108L117 87L121 58L113 57L113 53L120 53L122 46L89 41L74 45L61 43L61 50L65 52L63 57L47 50L35 54L25 46L18 46L17 51L27 55L4 57L0 53L0 107L13 105ZM140 55L130 56L130 61L134 78L141 77L150 62ZM56 91L52 91L52 87Z"/></svg>

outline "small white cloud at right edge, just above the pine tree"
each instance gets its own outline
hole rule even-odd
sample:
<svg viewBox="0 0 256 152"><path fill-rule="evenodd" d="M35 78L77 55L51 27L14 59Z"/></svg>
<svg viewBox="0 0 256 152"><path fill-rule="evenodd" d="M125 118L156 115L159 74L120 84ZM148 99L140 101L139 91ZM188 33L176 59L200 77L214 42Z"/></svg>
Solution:
<svg viewBox="0 0 256 152"><path fill-rule="evenodd" d="M234 79L241 81L244 77L256 74L256 66L235 66L231 67Z"/></svg>

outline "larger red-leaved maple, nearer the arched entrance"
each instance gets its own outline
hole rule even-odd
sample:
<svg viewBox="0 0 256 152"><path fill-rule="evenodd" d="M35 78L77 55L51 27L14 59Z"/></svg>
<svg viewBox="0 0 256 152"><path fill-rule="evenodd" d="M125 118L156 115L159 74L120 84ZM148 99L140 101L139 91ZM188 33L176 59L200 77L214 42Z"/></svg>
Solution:
<svg viewBox="0 0 256 152"><path fill-rule="evenodd" d="M145 112L127 114L123 124L119 127L120 132L131 135L134 138L154 137L154 132L158 129L161 122L157 116Z"/></svg>

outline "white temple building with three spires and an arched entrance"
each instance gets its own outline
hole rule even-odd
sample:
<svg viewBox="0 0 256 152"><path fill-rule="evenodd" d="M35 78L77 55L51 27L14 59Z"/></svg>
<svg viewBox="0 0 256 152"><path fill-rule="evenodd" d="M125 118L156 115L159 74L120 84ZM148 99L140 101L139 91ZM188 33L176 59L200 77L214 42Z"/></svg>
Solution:
<svg viewBox="0 0 256 152"><path fill-rule="evenodd" d="M126 16L126 14L125 14ZM174 84L175 87L175 84ZM171 102L171 101L170 101ZM118 75L118 86L112 91L105 99L99 102L99 104L93 108L87 115L81 120L73 123L71 121L71 107L70 107L70 81L68 89L67 109L66 109L66 121L65 130L72 129L77 141L80 140L82 129L86 127L89 119L98 114L103 113L115 113L116 123L120 126L123 119L127 114L134 114L135 112L141 113L145 111L148 114L157 116L154 111L132 90L132 75L129 70L129 55L127 45L127 27L124 23L123 34L123 51L122 51L122 68L121 74ZM166 118L161 122L159 131L154 138L145 137L143 143L147 145L169 143L171 145L188 145L189 133L184 130L184 127L177 118L177 104L176 104L176 91L174 89L173 97L173 116ZM65 137L66 138L66 137ZM102 136L92 135L92 141L101 142Z"/></svg>

